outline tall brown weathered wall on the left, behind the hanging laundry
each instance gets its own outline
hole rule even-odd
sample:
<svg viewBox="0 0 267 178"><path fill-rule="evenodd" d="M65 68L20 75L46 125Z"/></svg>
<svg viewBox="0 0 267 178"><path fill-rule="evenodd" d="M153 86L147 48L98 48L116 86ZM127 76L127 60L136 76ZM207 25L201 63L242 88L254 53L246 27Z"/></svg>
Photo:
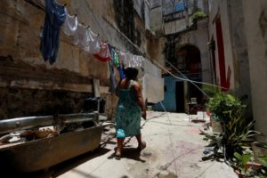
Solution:
<svg viewBox="0 0 267 178"><path fill-rule="evenodd" d="M144 22L134 12L133 6L128 6L127 8L132 8L133 13L129 16L125 15L125 17L132 18L134 33L132 36L125 35L117 20L115 2L118 1L58 0L59 4L67 4L66 7L70 14L77 14L79 22L90 25L95 33L100 34L102 41L108 40L110 44L115 45L123 52L148 53ZM128 4L129 1L125 2ZM75 92L82 100L85 99L85 95L78 93L92 93L92 78L98 78L101 94L108 100L107 110L109 113L107 114L112 116L116 100L113 96L108 96L110 93L108 93L107 64L96 60L92 54L85 53L82 48L72 44L71 36L65 36L62 32L56 62L53 65L44 63L39 52L39 33L43 23L44 1L3 0L0 2L1 90L28 90L28 92L23 92L28 95L31 95L33 90L38 90L43 93L40 100L44 101L46 98L51 101L57 100L56 96L50 96L50 93L55 90L67 93ZM12 93L5 93L8 94L6 96L7 103L11 103ZM23 97L21 94L19 95L18 101L14 101L16 102L14 104L20 110L12 114L10 112L11 105L7 105L7 107L1 108L4 113L2 116L20 117L20 115L38 114L37 109L29 110L30 107L26 109L27 111L22 111L21 103L23 102L19 99ZM74 99L75 97L73 97ZM25 100L31 100L31 98L25 98ZM46 110L42 109L42 106L38 108L39 114Z"/></svg>

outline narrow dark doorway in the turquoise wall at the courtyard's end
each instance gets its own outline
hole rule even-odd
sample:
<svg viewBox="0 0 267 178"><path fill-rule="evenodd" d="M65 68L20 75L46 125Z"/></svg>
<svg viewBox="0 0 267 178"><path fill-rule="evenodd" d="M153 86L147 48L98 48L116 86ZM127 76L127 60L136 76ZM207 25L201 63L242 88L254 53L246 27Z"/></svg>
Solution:
<svg viewBox="0 0 267 178"><path fill-rule="evenodd" d="M184 112L184 88L183 82L176 82L176 112Z"/></svg>

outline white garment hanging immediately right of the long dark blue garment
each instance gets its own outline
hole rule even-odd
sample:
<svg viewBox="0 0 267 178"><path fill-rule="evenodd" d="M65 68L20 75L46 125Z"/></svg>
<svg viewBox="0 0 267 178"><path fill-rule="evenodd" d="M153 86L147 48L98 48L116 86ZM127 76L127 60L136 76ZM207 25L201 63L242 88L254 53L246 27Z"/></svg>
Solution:
<svg viewBox="0 0 267 178"><path fill-rule="evenodd" d="M77 16L67 15L65 22L62 25L62 30L67 36L73 36L77 31Z"/></svg>

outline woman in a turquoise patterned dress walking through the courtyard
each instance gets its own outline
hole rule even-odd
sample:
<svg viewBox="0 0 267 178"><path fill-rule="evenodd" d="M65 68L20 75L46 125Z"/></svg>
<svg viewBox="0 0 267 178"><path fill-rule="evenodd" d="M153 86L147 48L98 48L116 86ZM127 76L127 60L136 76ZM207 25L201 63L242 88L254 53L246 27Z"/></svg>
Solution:
<svg viewBox="0 0 267 178"><path fill-rule="evenodd" d="M142 100L141 85L136 81L138 69L125 69L125 79L117 85L119 97L116 110L117 150L116 157L121 156L125 137L135 136L138 150L146 147L142 142L141 117L146 119L146 108Z"/></svg>

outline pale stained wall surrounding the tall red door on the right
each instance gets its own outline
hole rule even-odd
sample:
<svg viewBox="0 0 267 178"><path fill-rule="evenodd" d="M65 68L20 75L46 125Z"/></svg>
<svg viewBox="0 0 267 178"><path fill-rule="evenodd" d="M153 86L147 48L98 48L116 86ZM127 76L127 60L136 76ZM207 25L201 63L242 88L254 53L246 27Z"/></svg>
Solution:
<svg viewBox="0 0 267 178"><path fill-rule="evenodd" d="M210 13L209 29L210 36L214 36L214 40L216 41L214 20L220 17L223 27L226 77L229 69L231 69L230 90L239 97L246 97L246 104L248 106L247 115L252 116L247 40L244 30L243 8L240 4L242 4L242 0L214 1L212 12ZM216 73L217 77L220 77L217 49L218 46L216 46L215 52Z"/></svg>

